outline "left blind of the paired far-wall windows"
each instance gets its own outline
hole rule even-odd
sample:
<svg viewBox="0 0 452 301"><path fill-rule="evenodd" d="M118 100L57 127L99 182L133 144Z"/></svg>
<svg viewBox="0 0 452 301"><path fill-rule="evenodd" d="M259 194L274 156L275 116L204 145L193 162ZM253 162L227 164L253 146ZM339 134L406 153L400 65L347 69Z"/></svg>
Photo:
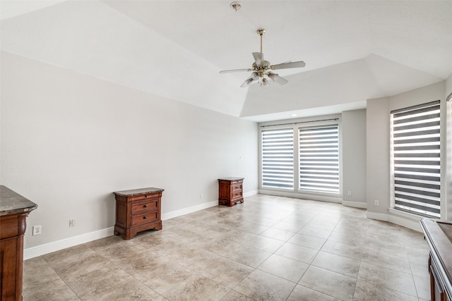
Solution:
<svg viewBox="0 0 452 301"><path fill-rule="evenodd" d="M294 131L262 131L262 186L294 188Z"/></svg>

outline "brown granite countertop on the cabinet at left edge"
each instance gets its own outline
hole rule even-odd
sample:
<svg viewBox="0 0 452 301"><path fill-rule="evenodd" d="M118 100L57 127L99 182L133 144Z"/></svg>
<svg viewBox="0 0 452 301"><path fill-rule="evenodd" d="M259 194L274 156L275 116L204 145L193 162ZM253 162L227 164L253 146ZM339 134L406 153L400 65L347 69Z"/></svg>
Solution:
<svg viewBox="0 0 452 301"><path fill-rule="evenodd" d="M0 185L0 216L30 212L37 204L26 199L17 192Z"/></svg>

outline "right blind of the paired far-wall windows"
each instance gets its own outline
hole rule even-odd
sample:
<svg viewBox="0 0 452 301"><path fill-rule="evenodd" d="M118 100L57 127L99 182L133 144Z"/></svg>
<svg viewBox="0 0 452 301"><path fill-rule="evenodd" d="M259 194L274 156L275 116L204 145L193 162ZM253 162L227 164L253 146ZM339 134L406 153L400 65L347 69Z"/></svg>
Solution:
<svg viewBox="0 0 452 301"><path fill-rule="evenodd" d="M338 125L299 128L299 190L339 193Z"/></svg>

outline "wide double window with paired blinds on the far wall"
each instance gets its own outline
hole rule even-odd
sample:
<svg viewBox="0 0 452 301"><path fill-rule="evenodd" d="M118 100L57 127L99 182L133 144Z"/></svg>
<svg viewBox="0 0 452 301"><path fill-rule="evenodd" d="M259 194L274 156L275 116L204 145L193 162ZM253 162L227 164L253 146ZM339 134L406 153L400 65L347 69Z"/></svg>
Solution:
<svg viewBox="0 0 452 301"><path fill-rule="evenodd" d="M261 188L340 194L338 118L261 128Z"/></svg>

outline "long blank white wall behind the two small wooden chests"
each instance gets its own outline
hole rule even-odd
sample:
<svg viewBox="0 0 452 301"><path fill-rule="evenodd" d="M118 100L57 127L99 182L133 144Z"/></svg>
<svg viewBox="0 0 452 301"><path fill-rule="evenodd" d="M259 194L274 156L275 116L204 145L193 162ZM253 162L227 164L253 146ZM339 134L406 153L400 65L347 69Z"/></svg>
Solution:
<svg viewBox="0 0 452 301"><path fill-rule="evenodd" d="M219 177L257 190L254 122L4 51L1 80L1 184L38 204L25 248L114 226L113 191L163 188L174 216L215 204Z"/></svg>

